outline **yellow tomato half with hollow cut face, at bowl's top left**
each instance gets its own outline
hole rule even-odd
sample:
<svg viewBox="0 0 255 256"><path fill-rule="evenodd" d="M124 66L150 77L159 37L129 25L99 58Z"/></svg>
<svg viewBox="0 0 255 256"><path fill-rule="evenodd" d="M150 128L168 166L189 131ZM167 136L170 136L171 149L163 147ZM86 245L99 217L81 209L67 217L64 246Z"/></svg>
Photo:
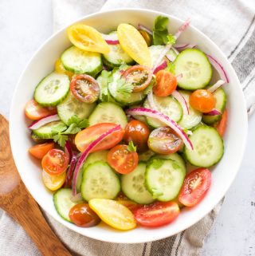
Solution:
<svg viewBox="0 0 255 256"><path fill-rule="evenodd" d="M110 52L110 47L107 42L104 41L102 35L92 28L92 26L75 24L73 26L69 26L67 34L69 36L69 40L79 49L104 54Z"/></svg>

